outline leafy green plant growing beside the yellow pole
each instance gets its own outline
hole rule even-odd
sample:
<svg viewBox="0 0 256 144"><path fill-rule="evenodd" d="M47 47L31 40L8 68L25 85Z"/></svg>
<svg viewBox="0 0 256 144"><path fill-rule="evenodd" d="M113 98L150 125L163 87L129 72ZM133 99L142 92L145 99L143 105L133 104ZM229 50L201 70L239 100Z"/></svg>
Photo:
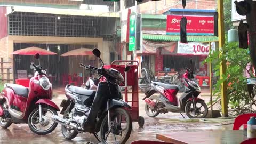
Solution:
<svg viewBox="0 0 256 144"><path fill-rule="evenodd" d="M238 43L228 43L223 47L224 49L214 51L210 54L204 62L212 61L214 65L213 70L216 72L215 74L220 76L219 63L223 60L226 61L226 73L223 74L223 78L219 79L217 84L214 85L213 94L218 95L217 101L220 98L220 85L226 81L229 106L231 109L237 111L237 113L241 113L242 109L250 103L244 72L246 71L247 63L251 62L251 58L248 54L248 50L240 49ZM223 52L221 57L219 57L219 52Z"/></svg>

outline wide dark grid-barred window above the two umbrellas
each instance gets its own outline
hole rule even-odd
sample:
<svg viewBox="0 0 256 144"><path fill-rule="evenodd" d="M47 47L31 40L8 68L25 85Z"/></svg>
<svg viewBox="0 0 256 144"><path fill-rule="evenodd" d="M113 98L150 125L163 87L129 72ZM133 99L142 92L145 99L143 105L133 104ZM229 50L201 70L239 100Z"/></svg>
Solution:
<svg viewBox="0 0 256 144"><path fill-rule="evenodd" d="M9 16L9 35L100 37L99 17L17 12Z"/></svg>

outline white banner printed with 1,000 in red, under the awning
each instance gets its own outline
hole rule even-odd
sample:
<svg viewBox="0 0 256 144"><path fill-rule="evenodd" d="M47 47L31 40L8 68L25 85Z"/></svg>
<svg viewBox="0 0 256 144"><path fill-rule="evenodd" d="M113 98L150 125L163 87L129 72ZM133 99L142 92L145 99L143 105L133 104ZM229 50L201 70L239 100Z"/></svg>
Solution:
<svg viewBox="0 0 256 144"><path fill-rule="evenodd" d="M215 51L215 42L211 43L211 50ZM181 43L178 42L178 54L184 55L209 55L210 45L199 42Z"/></svg>

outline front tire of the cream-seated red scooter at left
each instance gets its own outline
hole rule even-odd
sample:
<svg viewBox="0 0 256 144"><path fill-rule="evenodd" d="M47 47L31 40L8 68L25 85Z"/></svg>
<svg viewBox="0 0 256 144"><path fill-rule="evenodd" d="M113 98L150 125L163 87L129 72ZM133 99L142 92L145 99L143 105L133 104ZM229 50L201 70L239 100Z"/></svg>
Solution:
<svg viewBox="0 0 256 144"><path fill-rule="evenodd" d="M51 108L51 107L42 107L42 110L45 110L45 109L51 111L52 114L58 116L57 111L54 110L53 108ZM34 133L36 133L36 134L38 134L38 135L45 135L45 134L51 133L53 130L55 130L55 128L56 128L57 125L58 125L57 122L54 122L53 125L50 127L50 129L47 129L47 130L44 130L44 131L38 131L38 130L33 126L33 124L31 123L31 121L32 121L32 118L33 118L33 116L34 116L34 113L38 113L37 111L39 111L39 108L36 108L35 110L33 110L33 111L31 112L31 114L29 115L29 117L28 117L28 126L29 126L29 129L30 129L32 132L34 132Z"/></svg>

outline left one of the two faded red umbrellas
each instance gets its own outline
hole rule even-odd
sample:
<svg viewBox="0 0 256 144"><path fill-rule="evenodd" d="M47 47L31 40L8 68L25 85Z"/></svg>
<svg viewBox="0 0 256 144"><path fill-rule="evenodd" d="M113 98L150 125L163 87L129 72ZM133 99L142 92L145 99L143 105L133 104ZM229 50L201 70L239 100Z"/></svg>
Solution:
<svg viewBox="0 0 256 144"><path fill-rule="evenodd" d="M40 55L56 55L57 53L47 51L45 49L39 48L39 47L27 47L25 49L20 49L18 51L14 51L12 54L19 54L19 55L35 55L36 53L39 53Z"/></svg>

